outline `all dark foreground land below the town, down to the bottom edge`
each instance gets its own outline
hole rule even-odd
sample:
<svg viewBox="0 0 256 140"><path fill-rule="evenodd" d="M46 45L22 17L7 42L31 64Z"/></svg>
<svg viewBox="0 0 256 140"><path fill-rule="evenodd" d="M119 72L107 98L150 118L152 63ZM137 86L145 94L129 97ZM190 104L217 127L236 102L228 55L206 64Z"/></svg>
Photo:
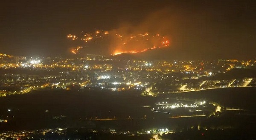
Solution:
<svg viewBox="0 0 256 140"><path fill-rule="evenodd" d="M168 128L175 133L166 133L159 137L164 140L219 140L233 139L236 134L237 140L242 137L244 140L255 139L255 95L255 87L162 94L157 97L143 97L136 92L113 94L104 91L33 91L0 98L0 117L2 120L8 119L7 123L0 123L0 131L83 128L81 131L86 133L65 132L64 135L58 135L58 138L63 139L61 137L73 134L76 135L74 137L88 136L94 137L93 139L150 139L153 138L152 134L152 137L147 137L137 132L146 133L148 129ZM218 103L221 112L202 117L173 118L173 114L180 116L182 113L173 110L171 115L151 111L158 101L186 100ZM238 110L226 110L227 108ZM110 129L114 129L116 135L108 132ZM92 133L91 130L96 130L97 133ZM133 136L128 137L128 133L121 132L131 132ZM52 134L46 136L57 139Z"/></svg>

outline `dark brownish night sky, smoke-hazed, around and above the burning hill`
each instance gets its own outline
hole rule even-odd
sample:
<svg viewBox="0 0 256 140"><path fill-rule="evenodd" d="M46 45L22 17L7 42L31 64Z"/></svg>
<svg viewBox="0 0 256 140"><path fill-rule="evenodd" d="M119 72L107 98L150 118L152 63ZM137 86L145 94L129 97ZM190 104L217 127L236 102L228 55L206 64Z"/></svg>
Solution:
<svg viewBox="0 0 256 140"><path fill-rule="evenodd" d="M0 53L63 56L67 34L124 25L170 36L177 59L256 58L256 0L1 0Z"/></svg>

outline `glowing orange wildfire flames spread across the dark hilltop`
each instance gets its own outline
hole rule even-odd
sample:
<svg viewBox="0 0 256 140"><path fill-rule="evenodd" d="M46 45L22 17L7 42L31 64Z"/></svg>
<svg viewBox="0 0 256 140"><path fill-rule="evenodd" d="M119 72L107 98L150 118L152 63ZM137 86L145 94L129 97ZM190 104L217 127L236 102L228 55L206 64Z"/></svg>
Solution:
<svg viewBox="0 0 256 140"><path fill-rule="evenodd" d="M100 47L105 45L105 48L110 51L111 55L145 52L147 50L169 47L170 45L170 41L166 36L147 32L144 34L119 34L117 31L96 30L90 33L82 31L79 35L69 34L67 38L81 45L94 46L96 43L99 43ZM79 46L76 49L72 49L71 52L78 54L81 48Z"/></svg>

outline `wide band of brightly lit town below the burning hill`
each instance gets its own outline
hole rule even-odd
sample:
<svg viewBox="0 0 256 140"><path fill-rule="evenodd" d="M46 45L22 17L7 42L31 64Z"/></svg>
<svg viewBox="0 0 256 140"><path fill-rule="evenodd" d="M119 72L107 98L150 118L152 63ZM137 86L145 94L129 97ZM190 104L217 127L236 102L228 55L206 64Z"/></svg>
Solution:
<svg viewBox="0 0 256 140"><path fill-rule="evenodd" d="M141 95L227 87L254 87L256 60L125 60L114 56L82 58L21 57L0 54L0 96L31 90L137 90ZM247 73L239 74L239 70ZM231 73L231 74L230 74Z"/></svg>

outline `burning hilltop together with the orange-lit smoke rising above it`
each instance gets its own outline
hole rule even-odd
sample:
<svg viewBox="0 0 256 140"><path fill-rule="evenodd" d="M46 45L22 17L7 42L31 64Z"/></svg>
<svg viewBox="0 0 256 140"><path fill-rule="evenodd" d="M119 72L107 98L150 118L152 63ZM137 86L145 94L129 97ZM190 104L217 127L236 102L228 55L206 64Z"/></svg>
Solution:
<svg viewBox="0 0 256 140"><path fill-rule="evenodd" d="M96 30L88 33L81 31L79 34L68 34L67 38L73 42L70 52L117 55L169 47L172 43L170 34L172 20L169 13L167 9L153 12L140 19L136 25L123 22L118 28L110 31Z"/></svg>

